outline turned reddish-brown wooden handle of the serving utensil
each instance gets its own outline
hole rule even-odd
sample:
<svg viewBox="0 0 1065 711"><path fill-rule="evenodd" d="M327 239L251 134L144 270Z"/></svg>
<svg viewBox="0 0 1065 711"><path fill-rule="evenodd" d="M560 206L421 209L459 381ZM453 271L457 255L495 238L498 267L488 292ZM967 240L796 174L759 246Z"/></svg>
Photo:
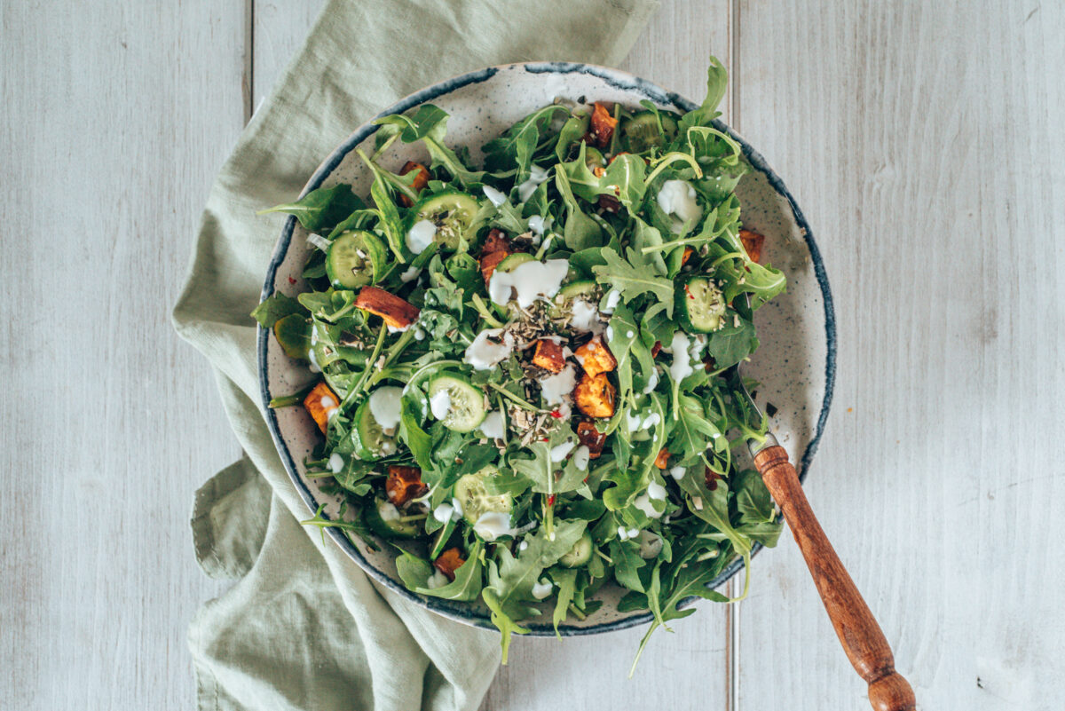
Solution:
<svg viewBox="0 0 1065 711"><path fill-rule="evenodd" d="M817 592L836 628L851 665L869 684L869 702L876 711L913 711L917 701L862 594L817 523L784 447L772 446L754 456L766 487L781 507L791 534L806 559Z"/></svg>

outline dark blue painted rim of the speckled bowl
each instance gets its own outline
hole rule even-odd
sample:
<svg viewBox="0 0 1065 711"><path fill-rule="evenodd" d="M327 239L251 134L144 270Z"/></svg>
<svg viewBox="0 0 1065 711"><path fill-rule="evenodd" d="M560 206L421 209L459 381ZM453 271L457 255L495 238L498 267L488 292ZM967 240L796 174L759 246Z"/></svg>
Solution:
<svg viewBox="0 0 1065 711"><path fill-rule="evenodd" d="M494 77L502 70L512 70L515 68L523 68L529 73L559 73L559 75L570 75L570 73L586 73L593 77L597 77L605 81L608 85L616 88L625 90L636 90L644 96L646 96L652 101L658 102L660 104L672 104L677 110L691 111L695 109L698 104L686 99L685 97L675 94L673 92L668 92L657 84L649 82L645 79L635 77L627 72L621 71L619 69L611 69L608 67L602 67L591 64L581 64L573 62L532 62L523 63L517 65L501 65L496 67L487 67L485 69L478 69L476 71L471 71L459 77L454 77L452 79L440 82L432 86L415 92L410 96L407 96L396 103L392 104L381 113L377 114L373 119L363 123L361 127L356 129L356 131L348 136L343 144L341 144L327 158L314 175L308 181L307 186L300 194L306 195L312 189L320 187L323 182L328 178L333 170L341 164L344 158L355 149L356 146L365 140L368 136L373 135L377 131L378 127L374 126L373 120L380 118L381 116L391 116L393 114L404 113L419 104L425 103L426 101L431 101L440 96L449 94L459 89L463 86L470 84L476 84L487 81ZM806 475L809 473L810 464L814 460L814 454L817 451L817 447L820 444L821 435L824 432L825 421L829 417L829 409L832 404L832 394L835 385L836 378L836 317L832 301L832 290L829 286L829 277L824 269L824 262L821 259L821 252L817 247L817 243L814 239L814 233L809 229L809 225L806 222L806 218L796 203L794 198L791 193L788 192L784 184L772 168L766 163L765 158L750 146L739 134L733 131L731 128L725 126L721 121L715 121L717 128L724 131L730 136L732 136L741 147L744 158L751 163L751 165L766 176L766 179L772 185L772 187L783 196L791 209L794 215L796 224L802 231L803 237L806 242L806 246L809 249L810 260L814 264L814 275L817 278L817 283L821 288L821 299L824 305L824 330L825 330L825 343L826 343L826 357L825 357L825 367L824 367L824 398L821 401L821 411L817 418L817 426L814 431L814 437L810 440L809 444L806 446L805 451L800 459L799 466L799 478L805 481ZM274 255L271 259L269 266L266 270L266 279L263 283L263 290L261 298L265 299L271 296L274 288L274 281L277 276L277 269L284 261L284 257L289 251L289 245L292 241L293 230L296 226L296 218L290 217L281 230L281 236L278 239L277 246L274 250ZM274 443L277 446L278 454L281 457L281 461L284 464L289 476L292 478L293 483L299 491L300 496L307 503L311 513L317 510L317 501L314 499L313 494L310 489L305 484L302 479L300 479L298 469L296 468L296 463L289 451L289 447L281 436L280 429L278 427L277 414L269 408L271 393L269 393L269 382L267 377L267 334L269 329L259 328L258 333L258 352L259 352L259 384L260 392L262 395L262 408L263 413L266 418L266 424L269 427L271 435L274 439ZM389 576L384 575L381 571L370 564L370 562L362 556L358 547L353 544L347 536L340 530L334 528L325 529L328 531L329 535L337 542L337 544L350 556L359 566L365 571L367 575L377 580L379 583L391 590L392 592L407 598L411 602L431 610L438 614L445 617L456 619L458 622L463 622L465 624L471 624L476 627L481 627L485 629L495 629L492 625L488 615L476 611L469 603L455 602L452 600L444 600L436 597L426 597L423 595L417 595L415 593L407 590L400 582L393 580ZM761 549L760 544L755 544L752 556L757 553ZM718 588L723 584L728 578L734 576L743 567L741 560L735 560L730 565L727 565L721 574L708 583L709 588ZM695 598L691 600L686 600L682 605L689 605ZM632 615L621 619L616 619L612 622L601 623L597 625L591 625L588 627L571 627L571 626L560 626L559 633L563 636L577 636L584 634L599 634L602 632L609 632L613 630L627 629L635 627L637 625L642 625L649 623L653 619L650 612ZM536 636L553 636L555 634L555 628L552 625L545 624L529 624L526 625L529 629L530 634Z"/></svg>

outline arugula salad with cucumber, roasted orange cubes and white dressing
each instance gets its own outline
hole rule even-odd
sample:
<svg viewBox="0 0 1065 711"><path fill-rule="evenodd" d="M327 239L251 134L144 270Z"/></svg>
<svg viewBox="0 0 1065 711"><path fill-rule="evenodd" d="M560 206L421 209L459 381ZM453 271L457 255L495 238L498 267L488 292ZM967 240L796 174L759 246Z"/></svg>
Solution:
<svg viewBox="0 0 1065 711"><path fill-rule="evenodd" d="M712 123L716 59L708 75L686 114L556 101L477 168L441 109L387 116L358 151L367 198L267 211L309 232L308 291L252 315L321 374L271 406L307 409L308 476L346 501L305 523L395 546L414 593L482 600L504 661L523 623L584 619L606 584L653 614L648 635L688 598L727 601L707 583L780 534L734 457L766 426L730 377L785 279L741 227L748 166ZM428 160L391 170L397 140Z"/></svg>

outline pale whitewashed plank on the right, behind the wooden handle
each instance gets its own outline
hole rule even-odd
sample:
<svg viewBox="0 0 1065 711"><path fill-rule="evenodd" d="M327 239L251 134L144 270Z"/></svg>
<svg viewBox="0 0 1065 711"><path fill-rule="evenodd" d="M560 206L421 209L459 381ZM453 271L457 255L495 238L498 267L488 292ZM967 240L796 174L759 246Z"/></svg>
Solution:
<svg viewBox="0 0 1065 711"><path fill-rule="evenodd" d="M1054 3L741 2L740 128L836 302L807 492L924 709L1065 690L1063 32ZM755 576L741 707L867 708L789 536Z"/></svg>

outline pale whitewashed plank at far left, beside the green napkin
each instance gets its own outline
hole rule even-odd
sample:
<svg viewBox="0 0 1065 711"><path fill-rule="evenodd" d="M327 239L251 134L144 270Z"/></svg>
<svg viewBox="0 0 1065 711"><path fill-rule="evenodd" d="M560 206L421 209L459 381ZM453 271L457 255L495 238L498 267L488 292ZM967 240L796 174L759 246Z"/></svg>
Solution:
<svg viewBox="0 0 1065 711"><path fill-rule="evenodd" d="M0 4L0 698L195 704L195 489L239 454L169 310L243 126L243 5Z"/></svg>

